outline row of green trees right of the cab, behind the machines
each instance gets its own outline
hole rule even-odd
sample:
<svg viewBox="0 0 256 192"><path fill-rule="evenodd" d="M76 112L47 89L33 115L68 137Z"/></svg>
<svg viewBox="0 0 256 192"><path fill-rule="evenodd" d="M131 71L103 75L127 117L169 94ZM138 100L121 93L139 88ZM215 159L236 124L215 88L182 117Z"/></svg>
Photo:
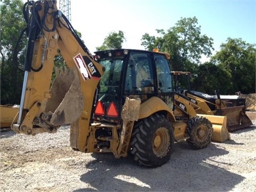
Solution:
<svg viewBox="0 0 256 192"><path fill-rule="evenodd" d="M213 55L213 39L201 35L196 17L181 18L167 31L156 30L159 36L146 33L141 45L147 50L157 47L169 52L172 70L190 71L195 90L208 94L215 90L221 94L255 93L255 44L228 37ZM210 61L201 63L202 55L210 57Z"/></svg>

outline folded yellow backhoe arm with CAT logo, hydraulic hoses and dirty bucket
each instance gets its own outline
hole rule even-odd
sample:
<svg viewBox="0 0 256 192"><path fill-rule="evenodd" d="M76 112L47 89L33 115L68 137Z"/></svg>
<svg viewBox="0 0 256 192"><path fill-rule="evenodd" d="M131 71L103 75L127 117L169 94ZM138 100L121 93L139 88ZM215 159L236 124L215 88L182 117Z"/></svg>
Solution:
<svg viewBox="0 0 256 192"><path fill-rule="evenodd" d="M25 77L18 121L12 124L12 130L35 135L71 124L77 141L85 140L105 69L94 61L65 15L58 11L57 1L30 1L27 5L31 18ZM56 55L62 55L68 68L57 70L52 84Z"/></svg>

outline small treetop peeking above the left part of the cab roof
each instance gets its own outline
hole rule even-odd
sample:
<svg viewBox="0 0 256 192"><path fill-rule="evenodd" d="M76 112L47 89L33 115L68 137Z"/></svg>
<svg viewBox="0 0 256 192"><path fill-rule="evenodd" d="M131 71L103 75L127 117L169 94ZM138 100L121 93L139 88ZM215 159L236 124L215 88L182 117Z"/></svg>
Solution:
<svg viewBox="0 0 256 192"><path fill-rule="evenodd" d="M111 32L104 39L104 42L101 46L96 47L97 51L107 50L107 49L121 49L122 44L125 41L123 31L119 30L118 33Z"/></svg>

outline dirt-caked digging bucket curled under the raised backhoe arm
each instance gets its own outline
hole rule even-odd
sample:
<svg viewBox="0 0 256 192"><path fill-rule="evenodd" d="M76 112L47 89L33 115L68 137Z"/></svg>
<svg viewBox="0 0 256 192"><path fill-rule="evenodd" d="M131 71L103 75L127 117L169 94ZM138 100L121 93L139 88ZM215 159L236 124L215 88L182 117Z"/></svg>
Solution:
<svg viewBox="0 0 256 192"><path fill-rule="evenodd" d="M51 124L70 124L81 116L83 95L76 70L55 68L56 77L52 84L51 99L47 101L46 115L51 116Z"/></svg>

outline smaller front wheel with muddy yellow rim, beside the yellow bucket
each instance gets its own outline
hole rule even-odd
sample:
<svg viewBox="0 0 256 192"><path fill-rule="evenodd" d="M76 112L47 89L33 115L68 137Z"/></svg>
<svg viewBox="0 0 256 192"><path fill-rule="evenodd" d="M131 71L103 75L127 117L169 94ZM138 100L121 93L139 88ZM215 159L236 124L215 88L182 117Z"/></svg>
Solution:
<svg viewBox="0 0 256 192"><path fill-rule="evenodd" d="M189 139L187 142L194 149L202 149L211 143L212 123L205 117L196 116L188 122Z"/></svg>

